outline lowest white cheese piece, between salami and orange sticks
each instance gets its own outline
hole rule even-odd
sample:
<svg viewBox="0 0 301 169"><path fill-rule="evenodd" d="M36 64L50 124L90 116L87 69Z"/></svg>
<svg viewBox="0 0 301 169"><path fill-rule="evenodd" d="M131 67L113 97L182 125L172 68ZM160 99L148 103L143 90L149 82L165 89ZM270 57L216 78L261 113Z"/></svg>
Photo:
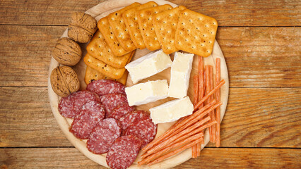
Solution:
<svg viewBox="0 0 301 169"><path fill-rule="evenodd" d="M167 123L178 120L186 115L191 115L194 111L188 96L183 99L168 101L165 104L150 109L153 123Z"/></svg>

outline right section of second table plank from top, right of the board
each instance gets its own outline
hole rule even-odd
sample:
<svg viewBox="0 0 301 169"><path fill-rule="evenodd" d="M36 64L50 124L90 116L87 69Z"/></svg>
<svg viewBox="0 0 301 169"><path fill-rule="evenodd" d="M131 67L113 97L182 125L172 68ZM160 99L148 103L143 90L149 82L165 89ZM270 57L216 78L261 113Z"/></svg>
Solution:
<svg viewBox="0 0 301 169"><path fill-rule="evenodd" d="M301 87L301 27L222 27L230 87Z"/></svg>

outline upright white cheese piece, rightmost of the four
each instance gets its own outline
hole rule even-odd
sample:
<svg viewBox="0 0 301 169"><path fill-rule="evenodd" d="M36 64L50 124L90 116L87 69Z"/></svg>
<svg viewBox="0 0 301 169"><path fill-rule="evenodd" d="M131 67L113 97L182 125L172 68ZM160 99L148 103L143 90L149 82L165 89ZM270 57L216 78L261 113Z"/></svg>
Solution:
<svg viewBox="0 0 301 169"><path fill-rule="evenodd" d="M170 89L168 90L168 96L179 99L187 96L193 60L194 54L175 53L170 73Z"/></svg>

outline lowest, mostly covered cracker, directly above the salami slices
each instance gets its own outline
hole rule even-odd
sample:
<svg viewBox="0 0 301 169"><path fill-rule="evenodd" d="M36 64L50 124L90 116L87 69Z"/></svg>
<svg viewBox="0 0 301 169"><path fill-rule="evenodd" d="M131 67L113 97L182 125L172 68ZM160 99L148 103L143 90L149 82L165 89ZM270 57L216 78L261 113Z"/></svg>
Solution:
<svg viewBox="0 0 301 169"><path fill-rule="evenodd" d="M124 75L120 79L112 79L110 77L107 77L106 75L103 75L102 73L98 72L98 70L95 70L87 65L87 68L85 69L85 84L89 84L90 82L93 82L94 80L115 80L117 82L121 82L122 84L126 84L127 76L129 75L128 71L124 72Z"/></svg>

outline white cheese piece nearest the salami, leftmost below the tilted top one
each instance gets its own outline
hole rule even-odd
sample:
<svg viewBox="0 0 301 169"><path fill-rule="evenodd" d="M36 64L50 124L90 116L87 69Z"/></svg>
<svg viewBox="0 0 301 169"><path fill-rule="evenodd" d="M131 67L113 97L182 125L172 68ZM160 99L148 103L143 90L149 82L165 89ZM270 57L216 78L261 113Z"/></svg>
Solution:
<svg viewBox="0 0 301 169"><path fill-rule="evenodd" d="M148 104L167 98L167 80L148 81L125 88L129 106Z"/></svg>

